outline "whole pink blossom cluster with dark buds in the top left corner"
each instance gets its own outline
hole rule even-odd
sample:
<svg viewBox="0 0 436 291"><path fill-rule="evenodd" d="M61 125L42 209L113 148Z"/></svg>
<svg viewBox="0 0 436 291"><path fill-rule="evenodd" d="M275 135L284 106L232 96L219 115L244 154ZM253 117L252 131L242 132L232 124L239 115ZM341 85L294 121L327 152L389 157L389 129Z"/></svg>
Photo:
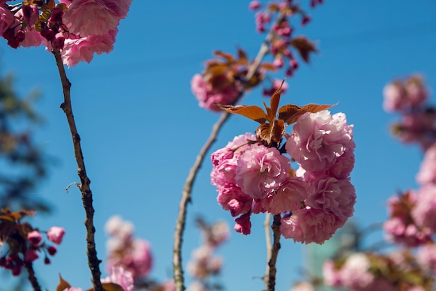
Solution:
<svg viewBox="0 0 436 291"><path fill-rule="evenodd" d="M0 33L8 45L60 50L63 64L75 66L114 48L118 24L132 0L0 1Z"/></svg>

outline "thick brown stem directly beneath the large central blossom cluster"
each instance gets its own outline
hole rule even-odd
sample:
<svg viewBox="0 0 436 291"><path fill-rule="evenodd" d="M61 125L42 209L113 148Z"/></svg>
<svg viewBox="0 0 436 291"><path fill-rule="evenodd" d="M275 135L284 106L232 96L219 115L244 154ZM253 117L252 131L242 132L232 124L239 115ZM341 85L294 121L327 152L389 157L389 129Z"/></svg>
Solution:
<svg viewBox="0 0 436 291"><path fill-rule="evenodd" d="M270 257L270 261L267 264L267 272L265 274L265 287L267 291L274 291L276 285L276 262L277 256L279 255L280 250L280 225L281 225L281 216L280 214L274 215L274 221L272 222L272 232L274 237L274 242L272 244L271 253L268 255Z"/></svg>

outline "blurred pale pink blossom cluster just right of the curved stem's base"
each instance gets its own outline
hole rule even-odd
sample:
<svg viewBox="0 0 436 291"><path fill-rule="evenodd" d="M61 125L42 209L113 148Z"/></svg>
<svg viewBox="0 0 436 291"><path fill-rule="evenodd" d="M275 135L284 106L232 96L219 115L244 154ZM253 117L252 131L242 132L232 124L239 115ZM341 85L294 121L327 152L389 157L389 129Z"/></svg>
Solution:
<svg viewBox="0 0 436 291"><path fill-rule="evenodd" d="M192 252L192 260L187 266L189 274L194 277L188 290L219 290L217 284L211 283L211 279L221 271L222 259L214 253L228 239L228 225L222 221L208 225L200 218L197 219L197 223L201 227L203 243Z"/></svg>

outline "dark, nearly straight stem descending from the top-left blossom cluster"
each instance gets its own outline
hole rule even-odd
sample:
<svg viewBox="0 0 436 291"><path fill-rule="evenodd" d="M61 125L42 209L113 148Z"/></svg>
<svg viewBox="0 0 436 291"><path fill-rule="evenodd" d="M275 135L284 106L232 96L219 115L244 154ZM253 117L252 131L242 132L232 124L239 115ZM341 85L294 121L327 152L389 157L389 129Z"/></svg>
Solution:
<svg viewBox="0 0 436 291"><path fill-rule="evenodd" d="M86 255L88 256L88 266L91 269L93 287L95 291L103 291L102 283L100 281L100 260L97 258L97 251L95 250L95 227L93 223L94 217L94 207L93 207L93 193L89 184L91 180L88 178L85 169L84 156L81 152L80 136L77 133L76 123L74 115L72 114L70 88L71 83L67 78L65 73L65 68L63 66L61 54L59 50L52 50L54 58L56 59L56 66L58 66L59 76L61 77L62 89L63 89L63 103L61 108L65 113L68 126L70 127L72 144L75 152L75 159L77 163L77 174L79 175L80 185L79 189L81 192L81 200L84 204L84 209L86 213L85 227L86 227Z"/></svg>

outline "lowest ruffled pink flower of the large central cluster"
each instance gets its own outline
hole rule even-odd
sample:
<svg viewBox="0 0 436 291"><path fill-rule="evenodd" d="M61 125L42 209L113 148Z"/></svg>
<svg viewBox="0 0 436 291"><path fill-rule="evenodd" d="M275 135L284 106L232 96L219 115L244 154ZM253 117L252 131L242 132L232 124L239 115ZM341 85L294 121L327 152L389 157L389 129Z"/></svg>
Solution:
<svg viewBox="0 0 436 291"><path fill-rule="evenodd" d="M293 211L291 216L281 219L280 232L283 237L300 241L304 244L315 242L323 244L343 226L344 219L325 211L306 207Z"/></svg>

